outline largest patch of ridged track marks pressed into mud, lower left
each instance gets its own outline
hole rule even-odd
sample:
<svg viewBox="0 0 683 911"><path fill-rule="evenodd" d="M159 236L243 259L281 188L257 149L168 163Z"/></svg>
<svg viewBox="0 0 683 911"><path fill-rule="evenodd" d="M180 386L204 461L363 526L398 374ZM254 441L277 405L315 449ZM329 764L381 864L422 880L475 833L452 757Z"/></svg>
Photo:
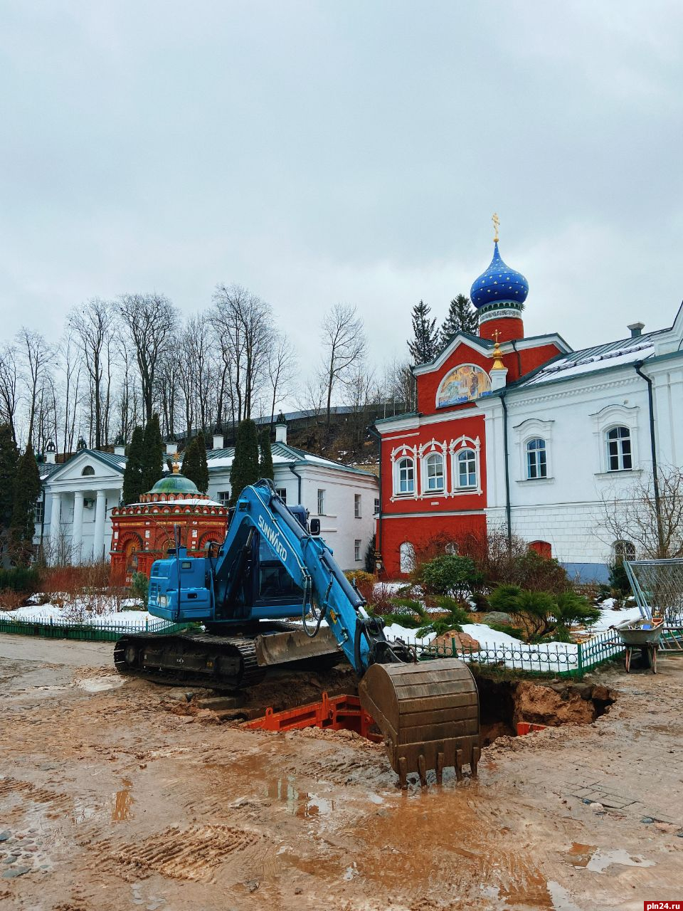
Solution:
<svg viewBox="0 0 683 911"><path fill-rule="evenodd" d="M122 866L138 875L158 873L170 879L209 880L214 870L232 855L263 843L265 836L229 825L172 826L150 835L138 844L112 844L105 840L93 846L98 866Z"/></svg>

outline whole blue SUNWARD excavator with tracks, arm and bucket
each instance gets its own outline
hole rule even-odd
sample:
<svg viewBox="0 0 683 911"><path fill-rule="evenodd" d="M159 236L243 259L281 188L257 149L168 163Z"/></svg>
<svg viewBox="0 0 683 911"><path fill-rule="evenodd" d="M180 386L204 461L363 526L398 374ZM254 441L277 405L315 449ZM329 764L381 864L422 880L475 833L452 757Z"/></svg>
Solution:
<svg viewBox="0 0 683 911"><path fill-rule="evenodd" d="M479 759L479 700L472 673L457 659L417 661L402 640L387 639L381 617L343 574L320 537L320 520L287 507L271 482L242 490L218 553L191 558L176 547L157 560L148 610L195 630L134 633L117 641L121 673L148 680L236 691L268 668L345 658L360 678L365 711L383 734L392 768L441 782ZM301 613L301 623L288 619ZM199 626L200 625L200 626Z"/></svg>

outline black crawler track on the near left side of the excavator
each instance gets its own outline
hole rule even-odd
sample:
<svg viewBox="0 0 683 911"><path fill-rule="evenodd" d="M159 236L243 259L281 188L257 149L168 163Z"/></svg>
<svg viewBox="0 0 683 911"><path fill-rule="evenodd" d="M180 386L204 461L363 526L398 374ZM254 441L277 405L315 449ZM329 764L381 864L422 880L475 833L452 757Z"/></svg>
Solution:
<svg viewBox="0 0 683 911"><path fill-rule="evenodd" d="M123 636L114 647L114 663L121 674L156 683L227 691L253 686L266 672L253 638L202 632Z"/></svg>

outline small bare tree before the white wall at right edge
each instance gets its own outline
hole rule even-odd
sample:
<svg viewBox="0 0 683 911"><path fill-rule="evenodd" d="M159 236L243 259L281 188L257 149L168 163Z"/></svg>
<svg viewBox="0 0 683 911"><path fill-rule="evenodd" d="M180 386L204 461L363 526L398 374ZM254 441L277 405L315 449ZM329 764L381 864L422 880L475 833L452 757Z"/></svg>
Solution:
<svg viewBox="0 0 683 911"><path fill-rule="evenodd" d="M658 496L653 476L642 476L623 493L602 497L598 537L609 545L630 541L638 558L683 557L683 470L659 466Z"/></svg>

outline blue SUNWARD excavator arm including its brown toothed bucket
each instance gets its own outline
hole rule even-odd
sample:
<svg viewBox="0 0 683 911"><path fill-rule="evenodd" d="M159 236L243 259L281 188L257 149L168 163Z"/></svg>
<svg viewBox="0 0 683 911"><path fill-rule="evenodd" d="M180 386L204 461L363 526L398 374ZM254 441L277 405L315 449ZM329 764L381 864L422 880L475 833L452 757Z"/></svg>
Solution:
<svg viewBox="0 0 683 911"><path fill-rule="evenodd" d="M269 481L245 487L230 522L215 569L216 597L233 597L236 568L255 529L264 537L302 591L301 619L315 636L325 620L361 678L362 706L378 725L392 767L402 786L408 773L426 783L434 769L462 766L476 773L479 759L479 699L464 662L443 659L417 662L401 640L387 640L381 618L371 617L366 602L342 573L331 549L291 514Z"/></svg>

